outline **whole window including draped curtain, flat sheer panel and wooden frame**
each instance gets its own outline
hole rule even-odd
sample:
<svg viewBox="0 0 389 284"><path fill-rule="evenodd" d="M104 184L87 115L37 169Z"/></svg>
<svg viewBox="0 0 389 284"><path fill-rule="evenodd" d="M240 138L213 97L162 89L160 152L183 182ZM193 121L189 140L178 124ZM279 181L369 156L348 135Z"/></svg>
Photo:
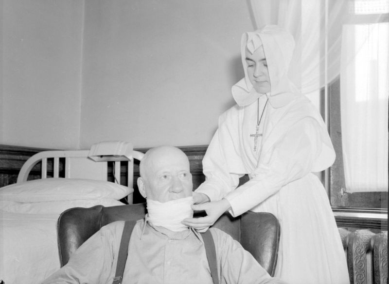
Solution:
<svg viewBox="0 0 389 284"><path fill-rule="evenodd" d="M334 213L370 212L387 225L389 0L248 3L254 29L277 24L295 38L289 78L321 111L336 150L318 173Z"/></svg>

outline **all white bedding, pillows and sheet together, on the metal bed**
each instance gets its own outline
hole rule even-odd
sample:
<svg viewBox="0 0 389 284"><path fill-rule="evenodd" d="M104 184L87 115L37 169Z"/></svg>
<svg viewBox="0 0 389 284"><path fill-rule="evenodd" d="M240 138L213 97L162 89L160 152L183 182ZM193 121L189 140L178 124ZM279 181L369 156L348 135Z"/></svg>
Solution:
<svg viewBox="0 0 389 284"><path fill-rule="evenodd" d="M49 178L0 188L0 280L38 284L60 268L57 220L72 207L124 205L132 189L107 181Z"/></svg>

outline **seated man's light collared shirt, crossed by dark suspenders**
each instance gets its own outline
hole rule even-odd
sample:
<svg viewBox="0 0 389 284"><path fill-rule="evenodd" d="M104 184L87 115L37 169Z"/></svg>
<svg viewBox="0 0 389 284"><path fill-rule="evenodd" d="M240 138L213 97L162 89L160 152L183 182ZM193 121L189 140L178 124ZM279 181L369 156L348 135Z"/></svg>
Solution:
<svg viewBox="0 0 389 284"><path fill-rule="evenodd" d="M71 255L47 283L111 284L115 277L124 221L101 228ZM268 283L269 274L239 242L211 228L220 283ZM212 284L202 237L193 229L172 232L140 220L128 246L123 283Z"/></svg>

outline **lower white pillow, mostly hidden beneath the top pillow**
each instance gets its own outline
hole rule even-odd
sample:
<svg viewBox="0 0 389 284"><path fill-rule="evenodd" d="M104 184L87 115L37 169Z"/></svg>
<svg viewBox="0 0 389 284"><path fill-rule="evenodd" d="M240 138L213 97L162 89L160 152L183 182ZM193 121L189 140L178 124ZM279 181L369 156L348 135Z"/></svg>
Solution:
<svg viewBox="0 0 389 284"><path fill-rule="evenodd" d="M117 206L124 203L115 199L96 200L67 200L51 202L20 203L8 200L0 200L0 210L10 213L23 214L61 214L63 211L73 207L92 207L95 205Z"/></svg>

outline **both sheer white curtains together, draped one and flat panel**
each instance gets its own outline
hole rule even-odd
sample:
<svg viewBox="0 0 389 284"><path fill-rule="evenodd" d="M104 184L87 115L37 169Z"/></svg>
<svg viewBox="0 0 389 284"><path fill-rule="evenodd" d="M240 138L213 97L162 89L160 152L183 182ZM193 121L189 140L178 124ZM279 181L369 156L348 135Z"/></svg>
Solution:
<svg viewBox="0 0 389 284"><path fill-rule="evenodd" d="M380 21L380 13L388 13L385 9L389 1L250 0L249 3L254 29L276 24L294 36L296 50L289 76L301 93L311 100L318 98L319 90L340 75L346 190L388 190L388 47L380 47L379 58L376 54L376 61L370 63L363 60L364 55L357 56L357 51L370 48L369 52L373 52L371 48L378 38L381 43L382 38L388 39L382 29L382 34L374 37L372 25ZM370 10L366 14L371 26L351 31L349 25L355 22L358 10ZM358 41L359 48L355 49L354 41ZM355 72L361 69L359 64L364 66L363 72ZM361 95L366 98L363 104L358 99Z"/></svg>

